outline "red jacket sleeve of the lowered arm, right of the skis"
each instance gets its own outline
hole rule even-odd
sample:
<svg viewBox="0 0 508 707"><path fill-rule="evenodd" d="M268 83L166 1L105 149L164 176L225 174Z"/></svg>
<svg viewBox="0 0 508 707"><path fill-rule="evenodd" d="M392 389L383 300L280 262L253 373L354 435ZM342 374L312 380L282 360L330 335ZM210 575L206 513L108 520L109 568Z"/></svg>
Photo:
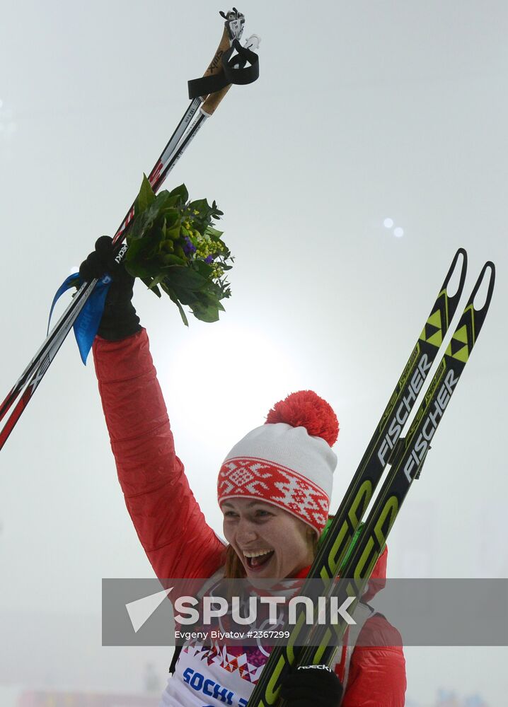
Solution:
<svg viewBox="0 0 508 707"><path fill-rule="evenodd" d="M405 689L402 638L376 614L365 622L354 647L341 707L404 707Z"/></svg>

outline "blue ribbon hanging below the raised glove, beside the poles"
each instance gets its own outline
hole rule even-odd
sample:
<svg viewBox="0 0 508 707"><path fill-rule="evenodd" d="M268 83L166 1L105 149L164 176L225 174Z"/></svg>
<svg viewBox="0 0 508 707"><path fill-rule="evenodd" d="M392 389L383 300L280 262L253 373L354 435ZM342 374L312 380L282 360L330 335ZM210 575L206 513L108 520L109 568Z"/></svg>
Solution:
<svg viewBox="0 0 508 707"><path fill-rule="evenodd" d="M93 339L96 338L97 330L100 325L100 319L103 316L104 305L106 301L106 296L108 295L108 290L112 279L110 275L105 275L103 279L99 280L96 286L93 288L91 296L86 300L86 304L83 306L81 312L76 317L74 322L74 336L76 337L76 344L78 344L79 354L81 356L81 361L86 366L86 358L90 353L92 348ZM80 287L81 278L79 273L74 273L69 275L62 284L57 289L57 292L53 298L53 302L50 309L50 317L47 321L47 333L50 332L50 322L51 316L54 310L54 305L57 303L59 298L64 292L70 290L72 287Z"/></svg>

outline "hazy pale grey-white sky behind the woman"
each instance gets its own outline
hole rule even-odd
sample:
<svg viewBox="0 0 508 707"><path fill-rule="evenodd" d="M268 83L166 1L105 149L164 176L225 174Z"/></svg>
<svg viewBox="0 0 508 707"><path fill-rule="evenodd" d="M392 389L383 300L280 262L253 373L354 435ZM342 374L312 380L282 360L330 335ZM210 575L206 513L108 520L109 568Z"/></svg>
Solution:
<svg viewBox="0 0 508 707"><path fill-rule="evenodd" d="M114 233L166 144L187 79L217 45L218 9L197 0L2 8L0 398L44 338L57 286ZM463 246L466 290L493 259L495 296L393 530L389 571L506 576L507 5L240 9L246 35L262 37L260 80L231 90L168 180L224 210L233 297L221 322L187 330L170 302L136 292L198 501L220 530L222 458L274 402L312 388L340 419L337 506ZM151 575L92 362L83 368L70 339L1 452L0 523L0 611L98 614L101 578ZM507 652L485 650L435 652L432 662L412 649L408 694L430 701L449 679L500 704Z"/></svg>

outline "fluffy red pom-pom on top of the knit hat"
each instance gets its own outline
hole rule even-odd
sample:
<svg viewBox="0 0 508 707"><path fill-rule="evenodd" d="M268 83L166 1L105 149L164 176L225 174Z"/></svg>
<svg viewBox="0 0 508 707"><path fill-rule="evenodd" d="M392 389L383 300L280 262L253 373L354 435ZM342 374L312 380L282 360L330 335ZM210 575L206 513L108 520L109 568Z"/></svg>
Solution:
<svg viewBox="0 0 508 707"><path fill-rule="evenodd" d="M277 402L267 414L266 423L277 422L291 427L305 427L309 435L323 438L330 447L339 435L337 415L328 402L313 390L299 390Z"/></svg>

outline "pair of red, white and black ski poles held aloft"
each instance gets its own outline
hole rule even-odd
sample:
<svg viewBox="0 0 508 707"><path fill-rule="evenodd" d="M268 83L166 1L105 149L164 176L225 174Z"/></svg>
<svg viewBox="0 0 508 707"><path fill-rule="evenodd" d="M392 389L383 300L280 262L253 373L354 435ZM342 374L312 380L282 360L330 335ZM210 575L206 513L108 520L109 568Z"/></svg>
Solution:
<svg viewBox="0 0 508 707"><path fill-rule="evenodd" d="M225 23L217 52L215 52L203 78L189 82L190 105L148 177L154 192L158 192L163 181L189 146L190 141L194 139L204 122L214 114L217 106L231 88L231 84L252 83L258 78L258 57L253 49L258 48L259 37L252 35L244 46L240 45L245 17L236 8L228 13L221 13L221 15L224 17ZM238 53L233 56L235 50ZM246 66L247 63L250 63L250 66ZM204 93L196 95L197 90ZM122 245L122 242L126 238L129 224L133 218L134 203L127 211L113 238L113 244L117 247L117 262L121 262L127 252L127 245L125 243ZM6 418L8 411L11 409L12 411L0 429L0 450L33 397L37 386L57 355L60 346L64 343L67 334L71 331L97 282L97 280L93 280L81 285L62 317L54 325L16 384L8 392L4 402L1 403L0 423Z"/></svg>

